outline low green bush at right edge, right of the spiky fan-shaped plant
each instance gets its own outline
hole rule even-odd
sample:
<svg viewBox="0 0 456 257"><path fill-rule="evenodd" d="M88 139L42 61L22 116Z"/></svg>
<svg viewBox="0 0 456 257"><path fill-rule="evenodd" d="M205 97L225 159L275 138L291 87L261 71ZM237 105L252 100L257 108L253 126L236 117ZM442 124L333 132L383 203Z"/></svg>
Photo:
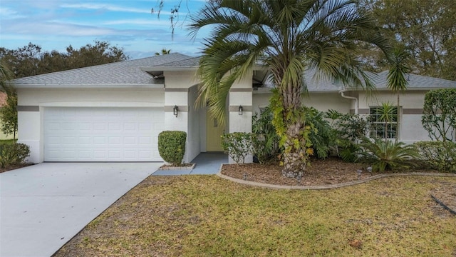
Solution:
<svg viewBox="0 0 456 257"><path fill-rule="evenodd" d="M456 173L456 143L450 141L420 141L415 143L421 159L430 168Z"/></svg>

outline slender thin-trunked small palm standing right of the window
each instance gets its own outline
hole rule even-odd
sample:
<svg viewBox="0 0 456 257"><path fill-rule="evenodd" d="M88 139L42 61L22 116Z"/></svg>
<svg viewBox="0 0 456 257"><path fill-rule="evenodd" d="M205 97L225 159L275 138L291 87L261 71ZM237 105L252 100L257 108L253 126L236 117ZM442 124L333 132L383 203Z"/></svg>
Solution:
<svg viewBox="0 0 456 257"><path fill-rule="evenodd" d="M388 56L388 61L390 63L390 70L388 71L387 83L386 86L388 89L393 91L393 93L398 94L398 105L396 116L397 126L396 126L396 136L395 141L398 141L399 135L399 118L400 118L400 93L407 90L408 81L405 79L405 74L410 71L410 67L406 64L407 59L410 57L410 53L405 49L403 45L397 45L391 51L390 56Z"/></svg>

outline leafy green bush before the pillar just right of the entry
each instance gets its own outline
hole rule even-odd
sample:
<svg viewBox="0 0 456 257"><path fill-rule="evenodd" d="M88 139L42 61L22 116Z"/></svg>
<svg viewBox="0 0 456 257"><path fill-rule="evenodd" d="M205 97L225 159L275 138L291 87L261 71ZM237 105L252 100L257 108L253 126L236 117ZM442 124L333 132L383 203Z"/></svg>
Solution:
<svg viewBox="0 0 456 257"><path fill-rule="evenodd" d="M245 157L252 153L252 133L233 132L222 136L222 147L237 164L242 164Z"/></svg>

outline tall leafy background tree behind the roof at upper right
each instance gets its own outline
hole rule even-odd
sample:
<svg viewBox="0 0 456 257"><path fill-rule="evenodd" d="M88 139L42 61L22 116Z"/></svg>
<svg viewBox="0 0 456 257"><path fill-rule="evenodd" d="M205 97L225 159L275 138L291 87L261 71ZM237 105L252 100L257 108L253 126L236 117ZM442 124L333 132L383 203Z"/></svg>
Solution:
<svg viewBox="0 0 456 257"><path fill-rule="evenodd" d="M361 0L385 36L410 49L406 64L413 74L456 80L456 4L452 0ZM366 69L383 71L388 61L366 46Z"/></svg>

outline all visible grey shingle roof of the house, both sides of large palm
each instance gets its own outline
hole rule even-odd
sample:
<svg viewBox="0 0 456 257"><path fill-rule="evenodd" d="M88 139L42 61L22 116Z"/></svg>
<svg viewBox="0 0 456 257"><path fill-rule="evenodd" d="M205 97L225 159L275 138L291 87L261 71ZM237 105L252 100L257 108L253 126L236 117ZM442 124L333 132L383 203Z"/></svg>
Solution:
<svg viewBox="0 0 456 257"><path fill-rule="evenodd" d="M196 68L199 64L199 57L186 56L184 54L165 54L151 56L131 61L120 61L112 64L90 66L81 69L53 72L38 76L29 76L21 79L14 79L16 85L37 85L37 86L65 86L65 85L150 85L162 84L162 79L154 79L153 76L142 71L160 71L162 68ZM344 86L334 85L331 81L323 78L316 78L315 71L306 71L304 77L309 91L313 92L338 92ZM379 74L370 74L377 89L386 89L388 71ZM409 90L419 89L440 89L456 88L456 81L437 79L428 76L408 74ZM266 82L266 84L268 84Z"/></svg>

